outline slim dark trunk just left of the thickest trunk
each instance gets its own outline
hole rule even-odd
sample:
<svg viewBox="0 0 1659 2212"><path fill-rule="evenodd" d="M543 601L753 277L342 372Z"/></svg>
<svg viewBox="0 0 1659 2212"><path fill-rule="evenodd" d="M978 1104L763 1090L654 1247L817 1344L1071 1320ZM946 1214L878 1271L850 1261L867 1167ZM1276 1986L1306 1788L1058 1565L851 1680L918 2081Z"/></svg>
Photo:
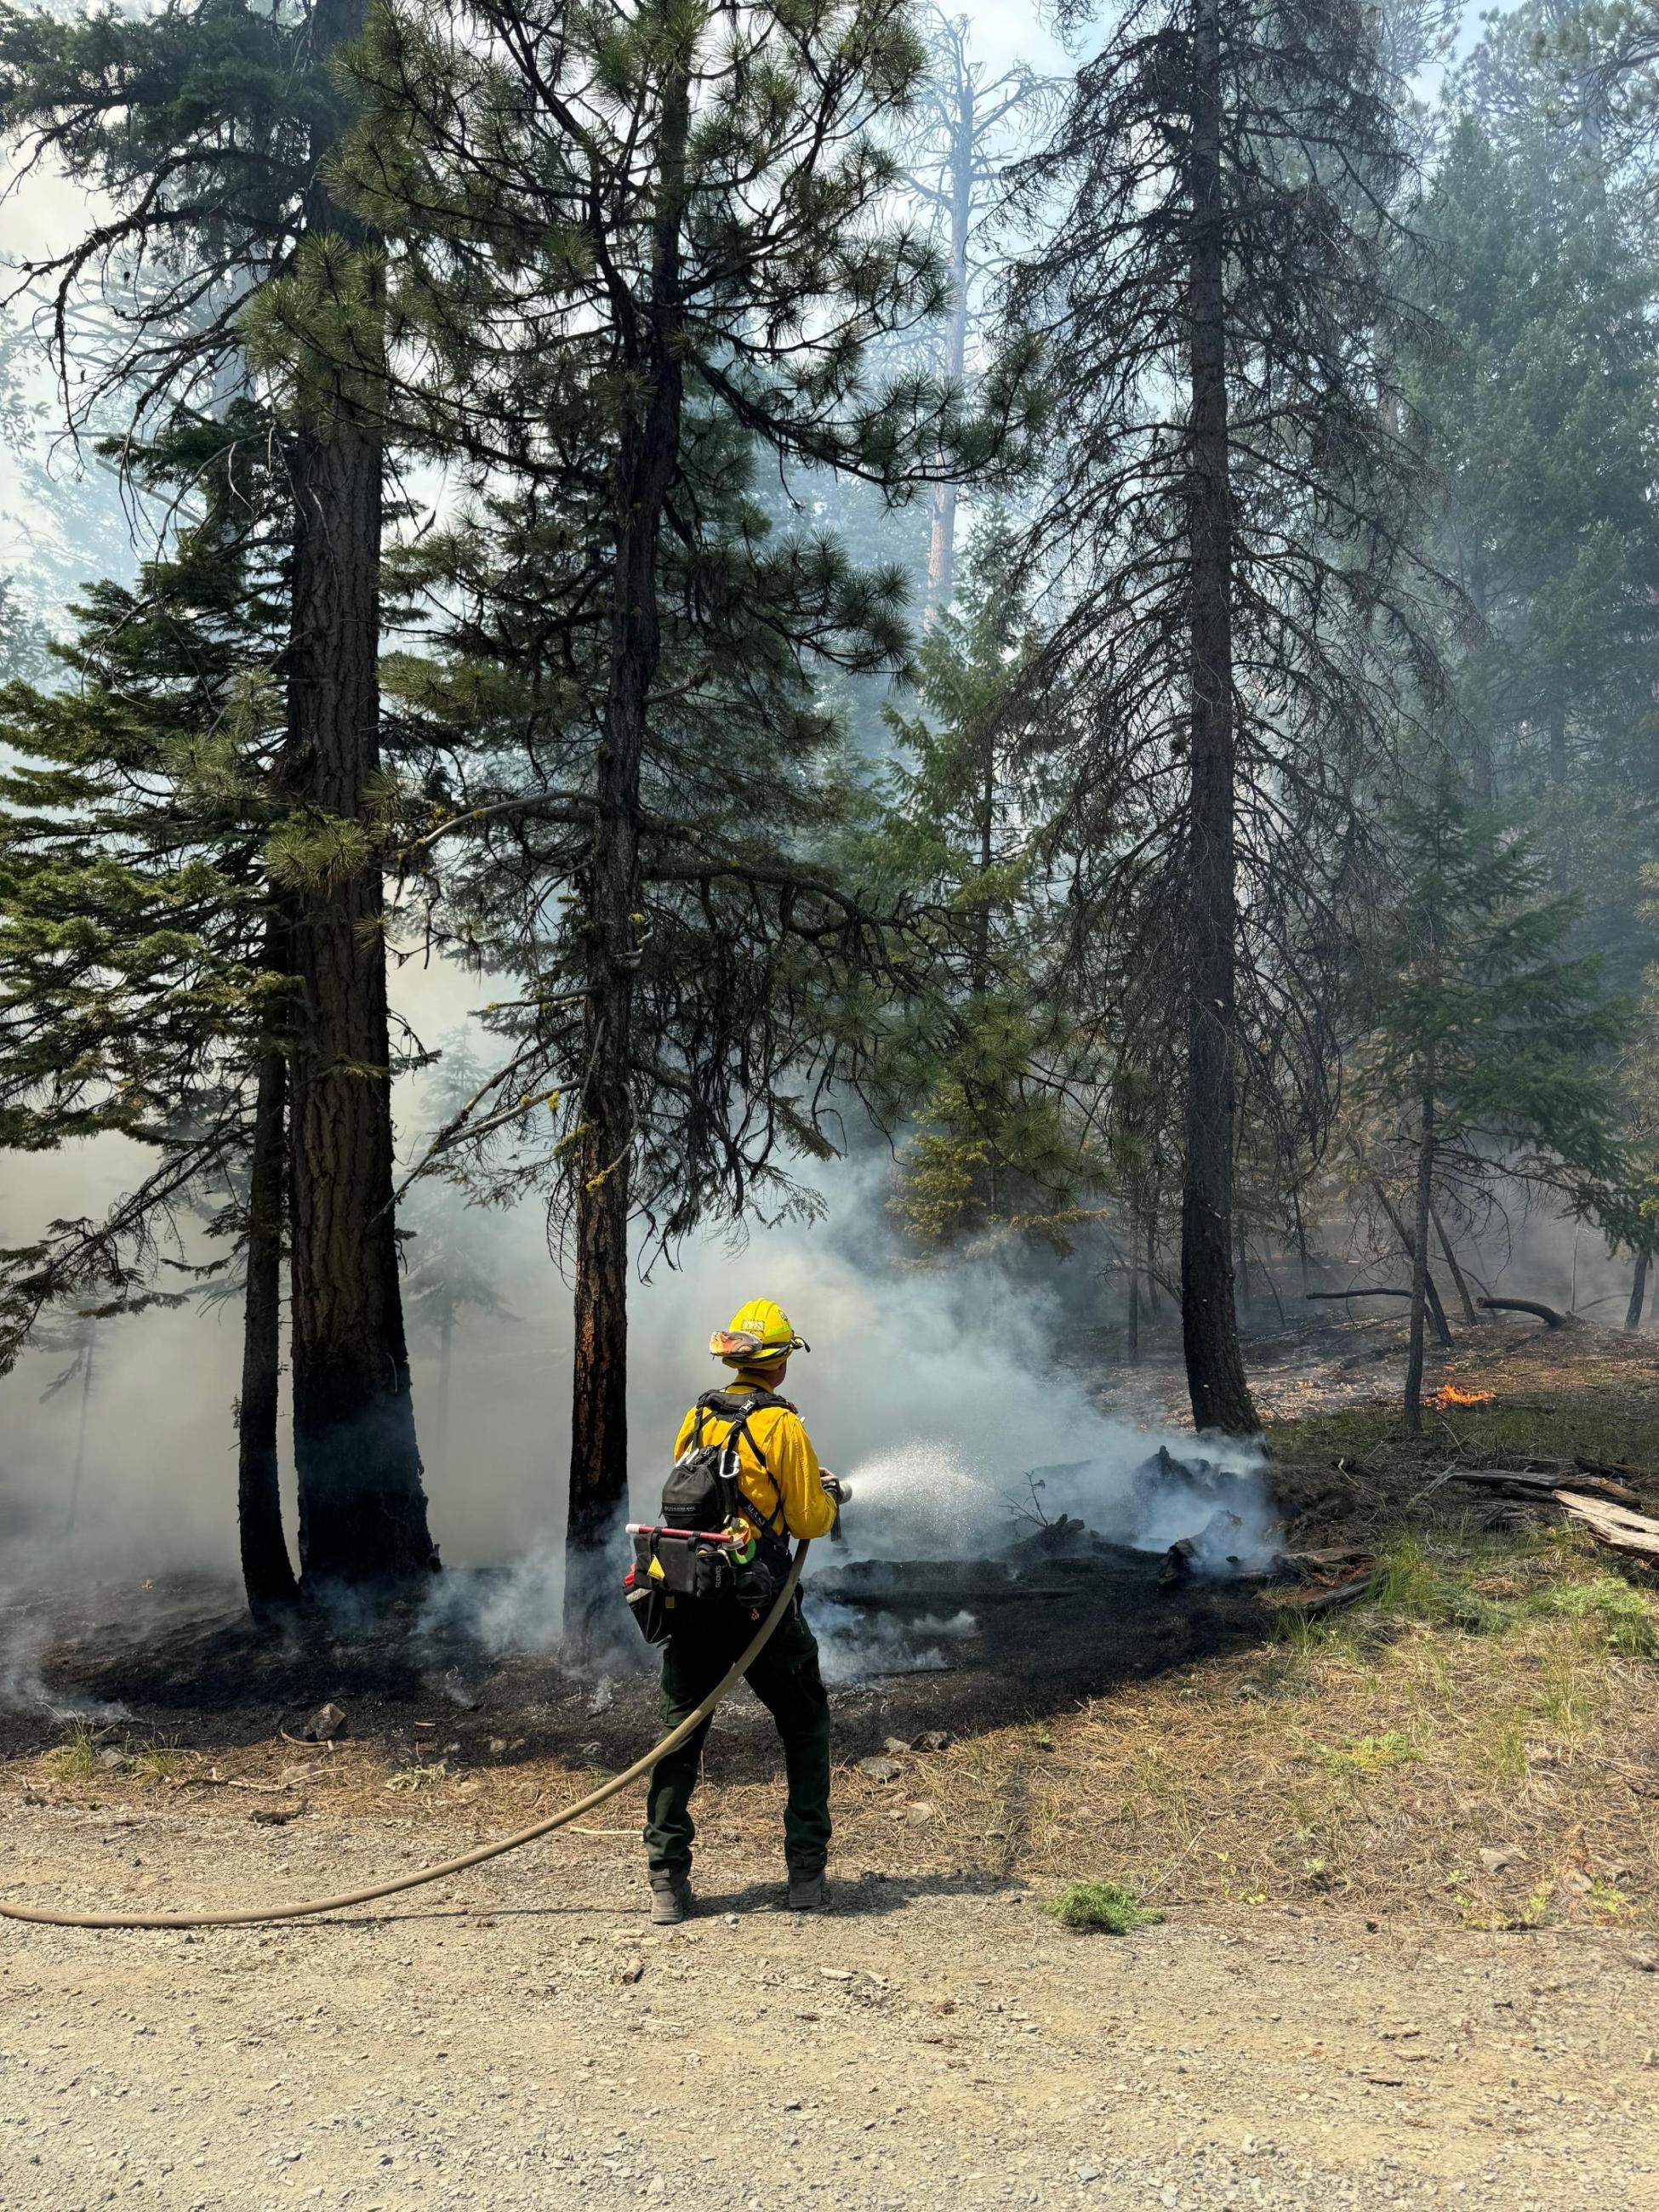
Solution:
<svg viewBox="0 0 1659 2212"><path fill-rule="evenodd" d="M241 1586L257 1621L290 1610L299 1584L283 1537L276 1480L276 1378L281 1371L281 1272L288 1062L259 1062L254 1152L248 1175L248 1292L241 1310L241 1396L237 1400L237 1542Z"/></svg>

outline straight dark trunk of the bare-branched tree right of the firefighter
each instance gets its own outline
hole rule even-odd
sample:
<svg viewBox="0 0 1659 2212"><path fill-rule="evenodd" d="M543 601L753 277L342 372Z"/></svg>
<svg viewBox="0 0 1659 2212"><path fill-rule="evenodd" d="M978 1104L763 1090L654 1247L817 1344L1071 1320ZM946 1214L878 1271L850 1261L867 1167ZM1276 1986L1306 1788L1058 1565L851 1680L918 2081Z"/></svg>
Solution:
<svg viewBox="0 0 1659 2212"><path fill-rule="evenodd" d="M1188 818L1188 1091L1181 1186L1181 1338L1192 1422L1252 1436L1232 1290L1237 854L1232 706L1232 484L1221 181L1221 27L1199 0L1192 35L1192 383L1188 562L1192 794Z"/></svg>

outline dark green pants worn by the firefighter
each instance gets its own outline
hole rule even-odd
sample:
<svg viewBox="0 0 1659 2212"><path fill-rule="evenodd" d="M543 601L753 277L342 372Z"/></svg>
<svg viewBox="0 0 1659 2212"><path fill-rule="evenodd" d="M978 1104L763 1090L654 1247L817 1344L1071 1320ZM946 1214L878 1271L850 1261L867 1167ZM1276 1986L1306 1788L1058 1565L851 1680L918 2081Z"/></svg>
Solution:
<svg viewBox="0 0 1659 2212"><path fill-rule="evenodd" d="M664 1719L677 1728L692 1712L754 1635L748 1610L710 1608L675 1628L664 1650ZM818 1672L818 1644L801 1619L785 1613L745 1677L783 1736L790 1803L783 1812L783 1856L790 1874L821 1874L830 1851L830 1699ZM659 1759L646 1796L646 1851L653 1876L690 1874L697 1827L690 1798L703 1759L708 1721L677 1752Z"/></svg>

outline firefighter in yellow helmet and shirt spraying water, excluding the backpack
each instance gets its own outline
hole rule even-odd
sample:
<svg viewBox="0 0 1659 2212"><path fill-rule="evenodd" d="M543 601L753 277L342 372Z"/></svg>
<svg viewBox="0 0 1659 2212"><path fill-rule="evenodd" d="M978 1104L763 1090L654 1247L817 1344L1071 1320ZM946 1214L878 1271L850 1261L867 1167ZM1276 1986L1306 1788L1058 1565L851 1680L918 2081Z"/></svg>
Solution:
<svg viewBox="0 0 1659 2212"><path fill-rule="evenodd" d="M810 1347L794 1334L781 1305L750 1298L726 1329L714 1332L708 1349L732 1369L732 1383L690 1407L679 1425L675 1460L695 1438L719 1444L737 1429L739 1489L768 1517L770 1528L781 1540L830 1535L838 1484L818 1467L796 1409L779 1396L790 1354ZM757 1394L763 1402L741 1413ZM677 1728L708 1697L752 1635L750 1613L737 1606L686 1606L675 1615L661 1668L668 1728ZM818 1911L825 1902L823 1865L830 1851L830 1699L818 1672L818 1644L801 1615L799 1593L748 1670L748 1686L783 1739L790 1911ZM690 1798L706 1736L708 1721L679 1750L659 1759L650 1774L646 1854L650 1918L659 1927L672 1927L690 1909Z"/></svg>

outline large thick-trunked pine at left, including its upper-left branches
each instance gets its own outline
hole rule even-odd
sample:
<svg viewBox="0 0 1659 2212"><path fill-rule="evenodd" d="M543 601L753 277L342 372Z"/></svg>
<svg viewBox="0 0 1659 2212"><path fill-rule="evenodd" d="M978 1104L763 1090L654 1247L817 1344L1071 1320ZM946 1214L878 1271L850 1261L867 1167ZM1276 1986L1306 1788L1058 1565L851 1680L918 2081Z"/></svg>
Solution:
<svg viewBox="0 0 1659 2212"><path fill-rule="evenodd" d="M71 411L119 392L139 422L223 414L248 347L279 400L294 1449L316 1582L434 1564L392 1217L383 887L361 827L380 772L383 261L330 190L338 53L361 27L363 0L0 15L7 137L100 201L29 270ZM82 383L69 334L88 296L119 314ZM299 865L319 849L327 865Z"/></svg>

